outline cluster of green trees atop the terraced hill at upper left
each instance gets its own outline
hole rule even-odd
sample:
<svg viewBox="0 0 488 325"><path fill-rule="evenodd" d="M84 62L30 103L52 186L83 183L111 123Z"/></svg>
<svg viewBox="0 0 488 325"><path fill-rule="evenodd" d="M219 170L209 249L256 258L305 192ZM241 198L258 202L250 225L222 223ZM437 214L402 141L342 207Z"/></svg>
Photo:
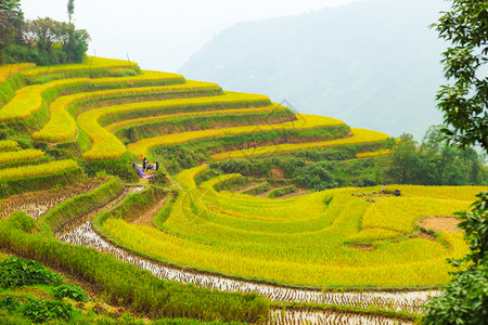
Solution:
<svg viewBox="0 0 488 325"><path fill-rule="evenodd" d="M24 20L20 0L0 0L0 64L34 62L38 65L79 63L90 36L72 22L74 0L68 0L68 23L50 17Z"/></svg>

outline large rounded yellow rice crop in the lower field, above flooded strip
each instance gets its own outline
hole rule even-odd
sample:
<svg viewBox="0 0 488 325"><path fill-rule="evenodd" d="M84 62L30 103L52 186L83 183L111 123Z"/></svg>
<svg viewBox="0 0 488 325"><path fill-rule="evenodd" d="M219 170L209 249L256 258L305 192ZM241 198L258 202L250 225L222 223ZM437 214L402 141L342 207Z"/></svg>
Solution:
<svg viewBox="0 0 488 325"><path fill-rule="evenodd" d="M372 204L356 194L378 187L337 188L273 200L214 190L239 174L217 177L197 186L194 177L205 169L185 170L176 178L183 191L170 211L162 212L167 217L155 219L159 229L124 219L108 219L103 229L117 244L153 259L318 287L439 285L449 281L452 271L446 258L467 251L462 234L425 238L415 236L414 224L426 213L450 213L468 206L457 193L471 197L475 188L470 186L435 188L435 195L444 193L444 205L426 197L421 208L420 199L409 196L428 192L429 186L398 186L402 196L384 200L383 205L390 206L383 214L387 218L372 219L381 224L377 230L395 233L396 238L383 237L362 247L349 245L349 238L367 229L367 216L380 214L375 205L382 200Z"/></svg>

